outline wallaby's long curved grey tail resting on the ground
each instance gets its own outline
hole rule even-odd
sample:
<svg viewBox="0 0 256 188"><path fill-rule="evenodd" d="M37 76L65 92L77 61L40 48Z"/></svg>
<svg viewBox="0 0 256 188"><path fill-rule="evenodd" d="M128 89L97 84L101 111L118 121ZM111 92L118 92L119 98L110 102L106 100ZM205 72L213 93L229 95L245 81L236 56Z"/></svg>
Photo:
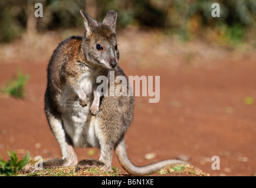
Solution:
<svg viewBox="0 0 256 188"><path fill-rule="evenodd" d="M120 139L120 142L117 143L114 151L123 169L126 170L127 173L133 176L144 176L146 174L151 174L151 173L157 172L157 170L160 170L163 167L170 166L173 164L189 164L189 163L183 162L182 160L171 159L171 160L162 160L160 162L148 164L146 166L135 166L127 156L123 137L122 139Z"/></svg>

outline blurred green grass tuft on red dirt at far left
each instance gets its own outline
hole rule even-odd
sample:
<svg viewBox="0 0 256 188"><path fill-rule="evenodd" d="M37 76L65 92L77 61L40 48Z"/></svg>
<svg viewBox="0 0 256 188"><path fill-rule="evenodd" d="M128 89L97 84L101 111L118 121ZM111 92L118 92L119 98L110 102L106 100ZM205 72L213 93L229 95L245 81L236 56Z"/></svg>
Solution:
<svg viewBox="0 0 256 188"><path fill-rule="evenodd" d="M6 82L6 88L2 87L1 92L6 93L14 98L22 99L25 96L25 85L28 82L29 75L24 75L20 69L18 69L17 76L12 80Z"/></svg>

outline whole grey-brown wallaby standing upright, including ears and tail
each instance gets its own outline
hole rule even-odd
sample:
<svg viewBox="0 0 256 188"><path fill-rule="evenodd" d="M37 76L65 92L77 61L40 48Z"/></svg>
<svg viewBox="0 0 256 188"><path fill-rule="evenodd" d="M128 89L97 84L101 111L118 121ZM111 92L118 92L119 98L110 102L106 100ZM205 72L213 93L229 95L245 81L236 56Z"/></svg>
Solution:
<svg viewBox="0 0 256 188"><path fill-rule="evenodd" d="M185 163L181 160L163 160L138 167L130 162L124 134L133 119L133 96L100 96L96 89L96 78L100 75L109 79L110 71L114 71L115 78L125 76L117 65L117 13L109 11L102 24L83 10L80 13L84 18L84 36L65 39L55 49L48 63L45 115L63 157L45 160L43 167L76 165L76 170L79 170L101 166L110 171L113 149L123 169L136 176ZM101 150L100 159L86 159L77 163L74 146L98 147Z"/></svg>

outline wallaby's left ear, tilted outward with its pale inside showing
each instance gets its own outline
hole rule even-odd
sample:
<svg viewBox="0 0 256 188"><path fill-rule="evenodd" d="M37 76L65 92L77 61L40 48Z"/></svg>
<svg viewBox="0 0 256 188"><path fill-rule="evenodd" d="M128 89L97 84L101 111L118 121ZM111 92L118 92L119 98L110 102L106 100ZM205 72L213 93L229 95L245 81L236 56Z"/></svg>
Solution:
<svg viewBox="0 0 256 188"><path fill-rule="evenodd" d="M86 39L90 38L91 34L93 33L94 29L98 26L96 20L91 18L90 15L86 14L83 9L80 10L81 15L84 17L84 27L86 28Z"/></svg>

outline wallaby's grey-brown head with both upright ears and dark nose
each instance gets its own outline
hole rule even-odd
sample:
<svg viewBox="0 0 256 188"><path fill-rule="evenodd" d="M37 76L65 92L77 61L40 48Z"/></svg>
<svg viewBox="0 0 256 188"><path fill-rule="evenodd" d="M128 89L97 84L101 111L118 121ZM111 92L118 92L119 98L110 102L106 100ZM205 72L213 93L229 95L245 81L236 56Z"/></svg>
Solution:
<svg viewBox="0 0 256 188"><path fill-rule="evenodd" d="M107 69L116 68L119 60L116 41L116 11L109 11L102 24L99 24L83 10L80 13L84 18L86 29L81 44L86 60Z"/></svg>

